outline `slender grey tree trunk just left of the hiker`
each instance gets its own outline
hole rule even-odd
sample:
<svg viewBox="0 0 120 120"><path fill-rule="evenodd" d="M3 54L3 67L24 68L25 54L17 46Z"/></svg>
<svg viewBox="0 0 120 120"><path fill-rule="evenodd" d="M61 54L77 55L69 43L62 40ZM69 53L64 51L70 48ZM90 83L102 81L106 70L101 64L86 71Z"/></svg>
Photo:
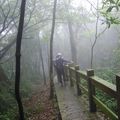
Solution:
<svg viewBox="0 0 120 120"><path fill-rule="evenodd" d="M51 37L50 37L50 99L54 97L53 91L53 37L54 37L54 28L55 28L55 14L56 14L56 4L57 0L54 0L54 8L53 8L53 19L52 19L52 29L51 29Z"/></svg>

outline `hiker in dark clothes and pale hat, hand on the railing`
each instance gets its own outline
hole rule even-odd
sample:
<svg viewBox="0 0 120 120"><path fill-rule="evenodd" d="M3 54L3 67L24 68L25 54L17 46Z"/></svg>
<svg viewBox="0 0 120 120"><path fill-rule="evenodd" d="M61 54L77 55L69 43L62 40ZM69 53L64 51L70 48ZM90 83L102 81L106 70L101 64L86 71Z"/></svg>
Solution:
<svg viewBox="0 0 120 120"><path fill-rule="evenodd" d="M65 85L64 65L67 63L70 62L64 60L61 53L58 53L56 55L56 60L54 61L54 67L57 73L58 82L61 83L61 86Z"/></svg>

